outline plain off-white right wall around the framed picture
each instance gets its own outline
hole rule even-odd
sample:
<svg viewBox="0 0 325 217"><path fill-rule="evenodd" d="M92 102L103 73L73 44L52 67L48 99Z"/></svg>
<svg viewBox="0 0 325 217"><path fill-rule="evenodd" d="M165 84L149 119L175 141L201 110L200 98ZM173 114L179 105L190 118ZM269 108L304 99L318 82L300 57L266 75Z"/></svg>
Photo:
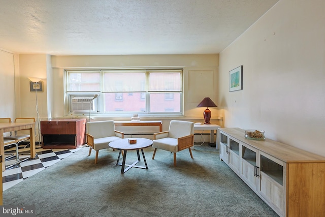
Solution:
<svg viewBox="0 0 325 217"><path fill-rule="evenodd" d="M280 0L220 53L225 127L262 129L325 156L324 9L323 0ZM229 92L229 71L240 65L243 90Z"/></svg>

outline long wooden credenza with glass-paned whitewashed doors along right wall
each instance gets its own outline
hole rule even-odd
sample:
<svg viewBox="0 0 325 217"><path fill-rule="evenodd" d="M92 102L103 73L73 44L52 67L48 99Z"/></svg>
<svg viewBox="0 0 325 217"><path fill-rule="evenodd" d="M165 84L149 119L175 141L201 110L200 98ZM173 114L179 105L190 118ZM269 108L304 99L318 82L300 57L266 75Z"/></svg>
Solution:
<svg viewBox="0 0 325 217"><path fill-rule="evenodd" d="M220 128L223 160L280 216L324 216L325 157L271 139Z"/></svg>

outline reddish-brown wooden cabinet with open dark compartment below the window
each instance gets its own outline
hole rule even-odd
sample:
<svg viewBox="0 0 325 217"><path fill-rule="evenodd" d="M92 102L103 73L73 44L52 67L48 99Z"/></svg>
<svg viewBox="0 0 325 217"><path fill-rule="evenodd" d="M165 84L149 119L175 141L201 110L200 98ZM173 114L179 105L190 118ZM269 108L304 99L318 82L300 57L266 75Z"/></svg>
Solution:
<svg viewBox="0 0 325 217"><path fill-rule="evenodd" d="M41 121L43 148L73 149L86 142L86 118Z"/></svg>

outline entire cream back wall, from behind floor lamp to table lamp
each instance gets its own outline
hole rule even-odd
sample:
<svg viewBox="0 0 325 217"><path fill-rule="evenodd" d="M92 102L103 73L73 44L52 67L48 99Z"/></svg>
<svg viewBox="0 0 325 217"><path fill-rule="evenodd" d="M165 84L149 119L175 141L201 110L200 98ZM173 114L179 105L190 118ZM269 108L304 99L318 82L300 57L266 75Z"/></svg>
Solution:
<svg viewBox="0 0 325 217"><path fill-rule="evenodd" d="M47 54L20 54L20 76L16 96L21 109L18 116L36 117L35 92L29 91L27 77L44 78L44 91L38 92L38 107L41 119L68 117L64 112L63 70L71 68L124 68L124 67L182 67L184 68L184 117L193 122L202 122L204 108L197 105L210 97L218 102L218 54L208 55L131 55L131 56L50 56ZM17 92L18 91L18 92ZM210 108L211 123L222 125L218 120L218 108ZM71 116L69 116L71 117ZM78 118L75 116L74 118ZM87 117L86 117L87 118ZM110 118L110 117L106 117ZM131 117L129 117L131 118ZM129 119L128 118L128 119ZM118 119L121 118L110 118ZM125 118L124 118L125 119ZM163 130L168 130L170 117L151 117L163 120ZM209 132L207 132L209 133Z"/></svg>

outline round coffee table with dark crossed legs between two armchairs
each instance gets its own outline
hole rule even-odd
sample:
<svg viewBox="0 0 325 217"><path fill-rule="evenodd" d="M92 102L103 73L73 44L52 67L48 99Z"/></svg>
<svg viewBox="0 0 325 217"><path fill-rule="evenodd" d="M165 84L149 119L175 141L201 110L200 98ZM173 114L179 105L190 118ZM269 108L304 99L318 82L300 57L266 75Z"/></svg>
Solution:
<svg viewBox="0 0 325 217"><path fill-rule="evenodd" d="M136 139L137 142L135 144L130 144L129 139ZM125 138L125 139L118 139L116 141L110 142L108 144L111 148L120 150L118 154L118 159L116 165L122 166L121 173L125 173L127 170L131 169L132 167L141 168L141 169L148 169L146 158L144 157L143 148L147 148L152 145L152 140L145 139L145 138ZM136 164L140 162L140 154L139 149L141 149L143 161L145 164L144 166L137 166ZM137 150L138 155L138 161L134 162L133 164L125 164L126 159L126 153L128 150ZM123 161L122 164L118 163L120 160L121 152L124 152L123 155ZM126 169L124 169L125 166L128 166Z"/></svg>

